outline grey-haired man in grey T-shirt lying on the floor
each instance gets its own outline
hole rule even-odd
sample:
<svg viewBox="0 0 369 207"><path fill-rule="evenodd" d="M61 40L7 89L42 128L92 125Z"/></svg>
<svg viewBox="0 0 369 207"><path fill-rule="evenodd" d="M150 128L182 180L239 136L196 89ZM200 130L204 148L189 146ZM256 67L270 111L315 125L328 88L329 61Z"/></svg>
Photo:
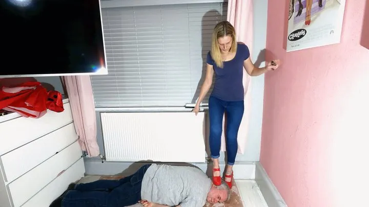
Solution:
<svg viewBox="0 0 369 207"><path fill-rule="evenodd" d="M214 186L195 167L150 164L120 180L97 180L69 185L50 207L122 207L140 202L147 207L202 207L228 201L226 182Z"/></svg>

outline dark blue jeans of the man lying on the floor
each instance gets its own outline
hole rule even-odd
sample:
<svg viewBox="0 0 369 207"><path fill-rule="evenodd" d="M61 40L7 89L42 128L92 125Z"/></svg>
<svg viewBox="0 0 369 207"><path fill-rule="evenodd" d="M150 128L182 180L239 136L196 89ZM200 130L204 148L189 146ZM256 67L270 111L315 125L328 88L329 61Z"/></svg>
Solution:
<svg viewBox="0 0 369 207"><path fill-rule="evenodd" d="M68 191L61 201L63 207L122 207L141 199L141 182L151 165L120 180L97 180L81 183Z"/></svg>

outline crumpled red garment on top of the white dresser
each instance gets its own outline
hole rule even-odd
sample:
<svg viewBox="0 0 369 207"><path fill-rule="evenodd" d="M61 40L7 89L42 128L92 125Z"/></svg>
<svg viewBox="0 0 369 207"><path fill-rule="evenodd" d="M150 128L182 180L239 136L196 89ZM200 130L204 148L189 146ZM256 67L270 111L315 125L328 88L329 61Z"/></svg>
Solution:
<svg viewBox="0 0 369 207"><path fill-rule="evenodd" d="M40 118L47 109L64 110L61 94L47 91L40 82L25 82L0 89L0 109L19 113L23 117Z"/></svg>

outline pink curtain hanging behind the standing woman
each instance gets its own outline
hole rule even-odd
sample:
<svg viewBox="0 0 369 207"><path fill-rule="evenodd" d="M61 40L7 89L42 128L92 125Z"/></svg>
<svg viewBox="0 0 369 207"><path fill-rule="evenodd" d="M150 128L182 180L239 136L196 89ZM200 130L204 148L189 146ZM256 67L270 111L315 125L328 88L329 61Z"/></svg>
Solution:
<svg viewBox="0 0 369 207"><path fill-rule="evenodd" d="M231 22L236 30L237 41L243 42L248 45L250 54L252 54L253 46L253 1L252 0L229 0L228 1L228 14L227 20ZM251 78L245 70L243 70L243 88L244 88L244 113L241 121L241 125L238 131L238 153L243 154L244 148L247 143L247 136L249 131L249 119L251 110ZM223 129L224 129L224 117L223 117ZM226 151L226 137L222 133L221 151Z"/></svg>

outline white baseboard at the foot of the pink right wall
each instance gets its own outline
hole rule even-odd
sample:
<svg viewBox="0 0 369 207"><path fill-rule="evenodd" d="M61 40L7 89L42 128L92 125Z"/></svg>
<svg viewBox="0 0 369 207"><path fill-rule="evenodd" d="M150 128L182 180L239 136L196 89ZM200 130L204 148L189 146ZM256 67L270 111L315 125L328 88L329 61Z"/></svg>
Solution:
<svg viewBox="0 0 369 207"><path fill-rule="evenodd" d="M255 181L258 184L265 201L267 201L268 207L287 207L282 196L279 194L277 188L274 186L262 165L259 162L255 165Z"/></svg>

